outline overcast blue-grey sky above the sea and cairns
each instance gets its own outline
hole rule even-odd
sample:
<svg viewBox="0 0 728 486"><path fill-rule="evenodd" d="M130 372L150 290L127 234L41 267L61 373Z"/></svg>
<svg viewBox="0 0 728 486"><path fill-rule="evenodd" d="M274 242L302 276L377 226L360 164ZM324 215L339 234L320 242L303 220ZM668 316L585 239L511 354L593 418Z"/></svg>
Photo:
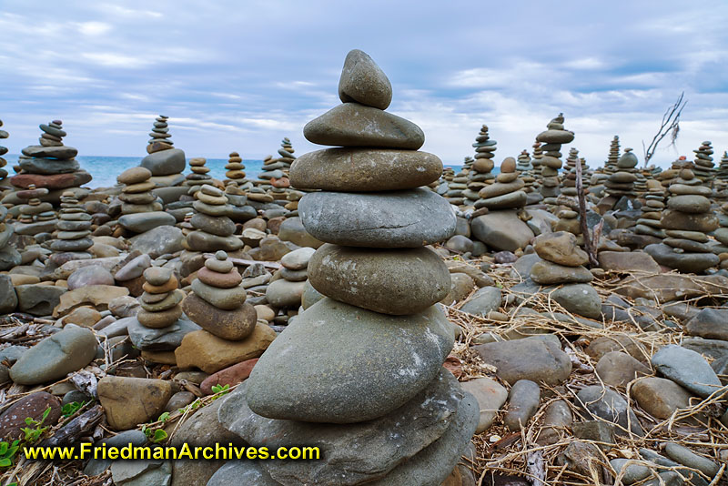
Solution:
<svg viewBox="0 0 728 486"><path fill-rule="evenodd" d="M0 0L5 145L18 153L61 118L80 155L141 157L161 113L187 157L261 158L281 137L301 154L315 147L304 124L339 103L352 48L448 163L472 154L483 123L498 162L531 150L560 111L591 166L613 135L642 157L682 90L677 151L653 160L728 148L725 0Z"/></svg>

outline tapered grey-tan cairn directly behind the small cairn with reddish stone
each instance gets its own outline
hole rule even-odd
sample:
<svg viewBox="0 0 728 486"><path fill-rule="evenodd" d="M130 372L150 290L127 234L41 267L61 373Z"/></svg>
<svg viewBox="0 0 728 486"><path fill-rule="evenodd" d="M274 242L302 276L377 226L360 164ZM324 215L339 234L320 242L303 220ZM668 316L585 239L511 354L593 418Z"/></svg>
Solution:
<svg viewBox="0 0 728 486"><path fill-rule="evenodd" d="M190 232L183 242L189 251L236 251L243 248L235 234L235 223L227 214L230 206L225 193L217 187L203 185L195 193L192 205L197 211L189 223L195 231Z"/></svg>

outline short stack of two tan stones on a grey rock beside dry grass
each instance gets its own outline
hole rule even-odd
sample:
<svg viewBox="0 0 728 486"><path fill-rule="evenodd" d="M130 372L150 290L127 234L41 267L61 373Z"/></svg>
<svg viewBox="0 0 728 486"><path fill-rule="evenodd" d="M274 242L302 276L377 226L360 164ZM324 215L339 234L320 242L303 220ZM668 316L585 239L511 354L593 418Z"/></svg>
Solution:
<svg viewBox="0 0 728 486"><path fill-rule="evenodd" d="M594 276L584 267L589 261L586 252L579 248L577 238L570 232L544 233L533 240L533 249L541 260L531 267L531 280L539 285L562 286L550 293L550 298L561 304L561 296L577 293L580 305L571 309L579 315L600 319L602 301L591 287Z"/></svg>

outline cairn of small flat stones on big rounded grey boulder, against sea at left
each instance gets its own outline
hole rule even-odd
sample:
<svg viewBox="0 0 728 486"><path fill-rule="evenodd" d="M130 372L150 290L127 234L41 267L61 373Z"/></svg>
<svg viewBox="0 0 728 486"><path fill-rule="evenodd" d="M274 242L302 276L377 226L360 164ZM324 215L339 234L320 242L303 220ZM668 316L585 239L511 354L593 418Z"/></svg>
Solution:
<svg viewBox="0 0 728 486"><path fill-rule="evenodd" d="M182 173L187 161L185 152L174 147L172 134L167 126L168 116L157 116L152 131L149 132L147 157L139 164L152 173L151 181L156 187L175 186L185 180Z"/></svg>

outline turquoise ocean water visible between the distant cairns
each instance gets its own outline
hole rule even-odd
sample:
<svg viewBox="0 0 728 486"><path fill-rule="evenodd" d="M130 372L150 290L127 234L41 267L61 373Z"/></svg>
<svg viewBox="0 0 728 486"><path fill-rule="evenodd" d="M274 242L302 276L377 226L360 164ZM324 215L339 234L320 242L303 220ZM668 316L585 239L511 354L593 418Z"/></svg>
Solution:
<svg viewBox="0 0 728 486"><path fill-rule="evenodd" d="M11 168L17 164L17 157L14 155L5 156L8 162L8 167L5 167L8 172L13 174ZM89 187L111 187L116 184L116 176L124 172L127 168L136 167L139 165L142 157L96 157L96 156L78 156L76 160L81 164L94 179L87 185ZM225 178L225 165L227 164L226 158L208 158L207 167L210 167L208 174L212 177L223 179ZM258 177L258 174L262 170L262 160L243 160L245 165L246 174L249 178ZM448 166L454 167L455 169L461 166ZM185 173L191 172L189 166Z"/></svg>

